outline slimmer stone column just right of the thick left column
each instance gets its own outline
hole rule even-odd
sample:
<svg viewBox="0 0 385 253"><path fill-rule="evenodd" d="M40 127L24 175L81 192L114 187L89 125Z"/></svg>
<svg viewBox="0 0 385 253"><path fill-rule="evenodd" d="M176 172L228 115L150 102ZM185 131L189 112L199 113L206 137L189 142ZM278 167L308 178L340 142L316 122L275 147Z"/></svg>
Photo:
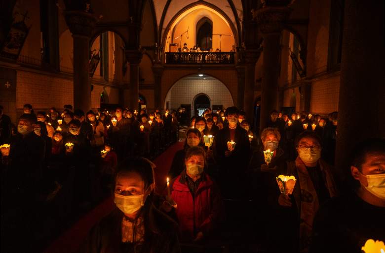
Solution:
<svg viewBox="0 0 385 253"><path fill-rule="evenodd" d="M130 63L130 99L124 104L129 104L133 111L139 111L139 63L143 54L140 50L126 50L125 53Z"/></svg>

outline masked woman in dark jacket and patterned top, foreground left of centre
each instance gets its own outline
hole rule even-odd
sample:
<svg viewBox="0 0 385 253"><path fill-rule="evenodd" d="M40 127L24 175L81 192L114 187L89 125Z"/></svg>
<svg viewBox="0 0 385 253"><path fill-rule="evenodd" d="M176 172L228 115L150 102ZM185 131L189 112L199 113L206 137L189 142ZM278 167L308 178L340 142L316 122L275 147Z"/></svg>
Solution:
<svg viewBox="0 0 385 253"><path fill-rule="evenodd" d="M115 177L116 208L89 232L82 253L180 253L178 226L157 208L149 160L128 159Z"/></svg>

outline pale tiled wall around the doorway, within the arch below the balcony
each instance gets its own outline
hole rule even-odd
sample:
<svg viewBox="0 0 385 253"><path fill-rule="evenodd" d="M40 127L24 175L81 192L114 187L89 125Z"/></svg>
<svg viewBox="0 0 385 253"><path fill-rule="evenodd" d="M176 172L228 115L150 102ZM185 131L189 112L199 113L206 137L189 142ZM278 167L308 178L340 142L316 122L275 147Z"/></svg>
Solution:
<svg viewBox="0 0 385 253"><path fill-rule="evenodd" d="M219 80L189 80L181 79L171 88L169 94L170 107L177 109L181 104L191 104L198 94L208 95L213 104L222 104L225 108L234 105L231 94L226 86ZM193 115L193 114L192 114Z"/></svg>

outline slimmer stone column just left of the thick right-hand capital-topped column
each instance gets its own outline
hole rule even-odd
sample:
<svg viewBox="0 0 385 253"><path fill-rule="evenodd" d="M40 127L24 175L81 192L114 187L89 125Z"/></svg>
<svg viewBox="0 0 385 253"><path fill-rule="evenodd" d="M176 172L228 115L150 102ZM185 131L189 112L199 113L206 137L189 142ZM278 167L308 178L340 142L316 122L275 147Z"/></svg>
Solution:
<svg viewBox="0 0 385 253"><path fill-rule="evenodd" d="M250 126L254 124L255 63L257 63L260 54L259 50L246 50L245 54L246 75L243 109Z"/></svg>

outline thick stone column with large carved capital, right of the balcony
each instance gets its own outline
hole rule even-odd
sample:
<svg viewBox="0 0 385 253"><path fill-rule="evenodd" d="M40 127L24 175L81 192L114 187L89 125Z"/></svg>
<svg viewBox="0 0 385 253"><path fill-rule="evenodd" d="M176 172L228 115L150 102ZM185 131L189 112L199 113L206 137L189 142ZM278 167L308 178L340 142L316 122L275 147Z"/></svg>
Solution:
<svg viewBox="0 0 385 253"><path fill-rule="evenodd" d="M260 131L266 127L270 111L278 109L279 39L290 11L289 7L266 6L254 15L264 37Z"/></svg>

